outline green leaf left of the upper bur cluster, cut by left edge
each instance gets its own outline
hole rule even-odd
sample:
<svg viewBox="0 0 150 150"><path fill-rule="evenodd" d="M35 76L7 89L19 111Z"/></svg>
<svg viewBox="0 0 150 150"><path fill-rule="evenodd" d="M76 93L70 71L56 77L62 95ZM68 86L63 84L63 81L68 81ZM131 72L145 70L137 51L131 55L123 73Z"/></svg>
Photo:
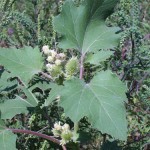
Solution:
<svg viewBox="0 0 150 150"><path fill-rule="evenodd" d="M0 65L11 71L13 76L20 77L28 83L33 75L41 71L42 55L38 47L0 48Z"/></svg>

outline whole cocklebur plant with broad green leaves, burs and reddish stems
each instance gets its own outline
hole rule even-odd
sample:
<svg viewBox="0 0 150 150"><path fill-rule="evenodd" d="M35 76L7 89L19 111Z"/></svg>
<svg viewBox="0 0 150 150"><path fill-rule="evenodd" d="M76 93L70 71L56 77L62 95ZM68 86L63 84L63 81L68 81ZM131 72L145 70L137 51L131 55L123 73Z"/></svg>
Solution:
<svg viewBox="0 0 150 150"><path fill-rule="evenodd" d="M62 38L58 47L62 50L73 49L78 51L78 56L72 56L66 61L64 53L50 50L45 45L42 52L38 47L24 47L22 49L0 49L0 64L9 70L12 77L17 77L23 86L24 97L15 95L14 99L6 100L0 104L0 145L2 149L15 148L14 133L32 134L57 144L64 144L75 139L78 134L78 123L83 117L87 117L93 128L102 134L108 134L114 139L125 141L127 139L127 121L124 102L127 102L127 88L111 70L97 72L90 82L84 81L85 63L99 65L108 59L118 45L120 28L107 27L105 19L112 13L118 0L85 0L76 6L72 0L66 0L61 13L54 18L53 25ZM69 12L69 13L68 13ZM86 58L87 55L90 58ZM46 55L47 72L43 72L43 54ZM77 59L78 58L78 59ZM63 61L65 63L63 63ZM65 71L65 73L64 73ZM67 74L58 85L53 78L60 74ZM58 105L64 109L64 114L74 123L74 131L68 125L63 127L55 124L52 132L57 138L30 131L27 129L12 129L5 126L6 119L12 119L17 114L28 114L28 108L38 106L39 100L29 87L33 76L49 79L49 83L38 85L39 88L50 89L49 96L44 99L43 107L49 107L57 97L60 97ZM73 76L73 78L70 78ZM59 132L58 132L59 131ZM5 145L7 136L7 146ZM76 140L74 140L76 141Z"/></svg>

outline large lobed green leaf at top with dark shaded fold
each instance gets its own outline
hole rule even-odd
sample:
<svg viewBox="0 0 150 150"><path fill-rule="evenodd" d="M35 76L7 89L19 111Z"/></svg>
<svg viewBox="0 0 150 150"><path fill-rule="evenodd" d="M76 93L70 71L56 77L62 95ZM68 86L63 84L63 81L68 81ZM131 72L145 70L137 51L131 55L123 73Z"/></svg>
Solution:
<svg viewBox="0 0 150 150"><path fill-rule="evenodd" d="M75 48L85 54L118 44L119 28L107 27L108 17L118 0L85 0L79 7L67 0L60 15L54 18L54 28L63 37L61 48Z"/></svg>

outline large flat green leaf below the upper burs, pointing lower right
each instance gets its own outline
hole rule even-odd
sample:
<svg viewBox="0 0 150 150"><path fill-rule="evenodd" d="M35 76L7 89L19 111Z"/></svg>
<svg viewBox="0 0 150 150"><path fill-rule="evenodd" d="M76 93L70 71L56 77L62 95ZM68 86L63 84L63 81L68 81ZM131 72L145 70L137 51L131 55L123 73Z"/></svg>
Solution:
<svg viewBox="0 0 150 150"><path fill-rule="evenodd" d="M88 84L77 78L66 81L60 105L75 123L87 116L93 127L102 133L126 140L126 90L115 74L105 71L98 73Z"/></svg>

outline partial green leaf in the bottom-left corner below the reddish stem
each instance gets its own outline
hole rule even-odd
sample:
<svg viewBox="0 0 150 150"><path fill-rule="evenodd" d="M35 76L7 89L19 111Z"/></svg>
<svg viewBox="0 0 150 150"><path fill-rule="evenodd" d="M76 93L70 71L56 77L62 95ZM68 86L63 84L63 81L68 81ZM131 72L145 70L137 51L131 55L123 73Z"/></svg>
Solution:
<svg viewBox="0 0 150 150"><path fill-rule="evenodd" d="M4 127L4 123L0 120L0 149L1 150L17 150L16 149L16 138L17 135L8 131Z"/></svg>

